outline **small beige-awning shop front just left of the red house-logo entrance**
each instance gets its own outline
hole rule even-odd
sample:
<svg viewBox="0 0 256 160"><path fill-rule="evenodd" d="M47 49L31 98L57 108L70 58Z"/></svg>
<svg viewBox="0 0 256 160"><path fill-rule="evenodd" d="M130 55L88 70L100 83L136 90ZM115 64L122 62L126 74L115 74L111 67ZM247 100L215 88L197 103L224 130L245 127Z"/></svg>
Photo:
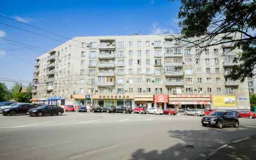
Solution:
<svg viewBox="0 0 256 160"><path fill-rule="evenodd" d="M154 95L138 94L134 95L134 106L146 106L147 108L154 107Z"/></svg>

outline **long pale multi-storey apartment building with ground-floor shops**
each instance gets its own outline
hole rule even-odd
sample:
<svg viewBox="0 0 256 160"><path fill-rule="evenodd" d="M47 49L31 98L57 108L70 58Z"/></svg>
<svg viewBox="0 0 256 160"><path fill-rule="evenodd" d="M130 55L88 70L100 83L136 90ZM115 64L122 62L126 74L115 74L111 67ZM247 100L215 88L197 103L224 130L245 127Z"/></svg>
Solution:
<svg viewBox="0 0 256 160"><path fill-rule="evenodd" d="M226 78L237 50L199 49L170 35L75 37L36 58L32 101L249 109L248 84Z"/></svg>

